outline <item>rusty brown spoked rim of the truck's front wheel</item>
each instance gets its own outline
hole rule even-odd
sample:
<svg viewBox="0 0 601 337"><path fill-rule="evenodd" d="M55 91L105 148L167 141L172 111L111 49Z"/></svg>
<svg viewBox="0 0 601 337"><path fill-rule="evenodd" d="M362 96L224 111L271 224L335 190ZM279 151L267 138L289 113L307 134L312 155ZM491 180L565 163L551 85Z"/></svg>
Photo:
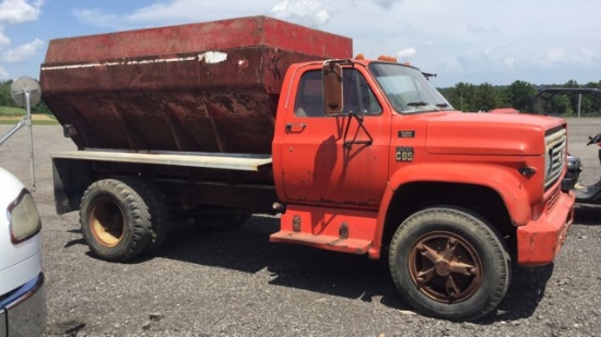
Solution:
<svg viewBox="0 0 601 337"><path fill-rule="evenodd" d="M482 285L476 251L450 232L420 238L411 249L409 272L420 291L444 303L464 301Z"/></svg>

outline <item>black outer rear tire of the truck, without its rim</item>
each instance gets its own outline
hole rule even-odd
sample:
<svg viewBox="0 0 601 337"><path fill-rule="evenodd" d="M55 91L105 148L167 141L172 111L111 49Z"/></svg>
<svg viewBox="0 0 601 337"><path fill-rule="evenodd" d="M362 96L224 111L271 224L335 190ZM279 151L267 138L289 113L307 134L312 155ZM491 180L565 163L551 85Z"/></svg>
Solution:
<svg viewBox="0 0 601 337"><path fill-rule="evenodd" d="M109 200L123 215L123 234L114 246L99 242L90 226L90 218L96 203ZM91 251L106 261L126 261L138 256L151 239L148 207L127 183L105 179L90 185L80 205L80 225Z"/></svg>

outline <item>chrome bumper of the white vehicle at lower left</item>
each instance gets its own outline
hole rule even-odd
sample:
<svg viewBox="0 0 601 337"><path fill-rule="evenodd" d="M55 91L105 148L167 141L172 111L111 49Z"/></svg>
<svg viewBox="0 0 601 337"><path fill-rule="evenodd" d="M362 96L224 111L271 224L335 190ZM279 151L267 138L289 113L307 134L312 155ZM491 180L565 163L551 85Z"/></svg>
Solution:
<svg viewBox="0 0 601 337"><path fill-rule="evenodd" d="M0 337L42 336L46 332L44 273L0 300Z"/></svg>

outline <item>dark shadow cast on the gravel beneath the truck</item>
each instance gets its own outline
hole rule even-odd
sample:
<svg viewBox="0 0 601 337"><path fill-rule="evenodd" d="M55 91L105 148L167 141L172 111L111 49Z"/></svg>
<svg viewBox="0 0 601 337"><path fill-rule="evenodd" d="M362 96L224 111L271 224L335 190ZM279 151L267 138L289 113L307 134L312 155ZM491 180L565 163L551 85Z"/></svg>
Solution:
<svg viewBox="0 0 601 337"><path fill-rule="evenodd" d="M255 274L271 273L270 285L303 289L327 296L377 302L412 311L401 299L389 275L386 253L379 261L293 244L269 242L279 220L252 217L241 228L215 231L177 225L154 256ZM145 258L153 258L148 256ZM139 263L143 261L135 261ZM532 315L544 296L553 266L514 273L510 289L496 313L480 324L522 320Z"/></svg>

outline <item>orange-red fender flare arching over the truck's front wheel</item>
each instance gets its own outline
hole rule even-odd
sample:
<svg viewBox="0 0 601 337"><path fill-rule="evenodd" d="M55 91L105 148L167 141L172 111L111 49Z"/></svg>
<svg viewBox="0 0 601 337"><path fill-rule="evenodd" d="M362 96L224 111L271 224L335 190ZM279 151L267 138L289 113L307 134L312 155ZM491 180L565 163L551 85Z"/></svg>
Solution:
<svg viewBox="0 0 601 337"><path fill-rule="evenodd" d="M516 226L523 226L530 221L532 210L528 189L525 188L527 178L507 166L485 163L426 163L412 164L398 169L388 182L376 222L374 245L369 250L372 258L380 254L381 239L386 216L391 206L396 191L403 184L411 182L444 182L482 185L496 191L504 201L509 217Z"/></svg>

